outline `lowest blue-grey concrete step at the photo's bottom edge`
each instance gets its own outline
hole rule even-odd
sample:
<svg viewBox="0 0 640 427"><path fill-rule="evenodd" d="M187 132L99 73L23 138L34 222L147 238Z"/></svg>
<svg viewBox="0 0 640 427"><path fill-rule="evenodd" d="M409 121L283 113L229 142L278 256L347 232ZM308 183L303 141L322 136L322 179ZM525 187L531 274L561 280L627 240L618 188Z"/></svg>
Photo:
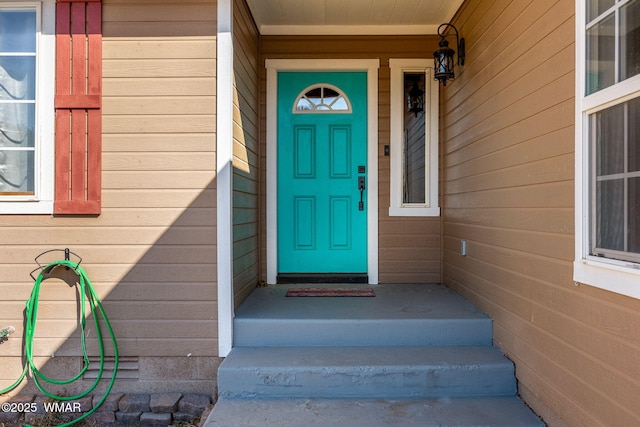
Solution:
<svg viewBox="0 0 640 427"><path fill-rule="evenodd" d="M544 427L517 397L220 399L204 427Z"/></svg>

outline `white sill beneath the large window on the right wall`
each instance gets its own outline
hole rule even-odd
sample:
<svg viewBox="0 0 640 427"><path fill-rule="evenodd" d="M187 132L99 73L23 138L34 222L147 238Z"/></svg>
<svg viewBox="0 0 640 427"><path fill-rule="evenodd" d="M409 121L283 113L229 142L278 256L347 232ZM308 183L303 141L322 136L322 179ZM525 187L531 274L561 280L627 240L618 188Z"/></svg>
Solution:
<svg viewBox="0 0 640 427"><path fill-rule="evenodd" d="M581 259L573 264L573 280L640 299L640 266L637 264Z"/></svg>

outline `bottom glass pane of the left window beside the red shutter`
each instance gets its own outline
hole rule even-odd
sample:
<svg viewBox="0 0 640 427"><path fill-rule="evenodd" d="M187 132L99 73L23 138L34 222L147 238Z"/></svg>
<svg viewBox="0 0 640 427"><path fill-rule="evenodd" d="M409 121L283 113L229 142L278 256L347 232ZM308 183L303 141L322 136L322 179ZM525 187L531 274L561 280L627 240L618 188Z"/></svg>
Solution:
<svg viewBox="0 0 640 427"><path fill-rule="evenodd" d="M34 152L0 149L0 194L33 194Z"/></svg>

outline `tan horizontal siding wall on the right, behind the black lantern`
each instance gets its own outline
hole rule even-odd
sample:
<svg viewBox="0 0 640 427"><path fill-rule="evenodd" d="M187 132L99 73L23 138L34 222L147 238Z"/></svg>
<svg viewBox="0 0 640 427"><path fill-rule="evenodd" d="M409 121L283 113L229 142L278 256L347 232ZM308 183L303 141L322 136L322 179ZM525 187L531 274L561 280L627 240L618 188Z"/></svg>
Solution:
<svg viewBox="0 0 640 427"><path fill-rule="evenodd" d="M574 2L468 0L442 92L444 276L549 425L640 425L640 301L576 286ZM468 256L460 256L460 241Z"/></svg>

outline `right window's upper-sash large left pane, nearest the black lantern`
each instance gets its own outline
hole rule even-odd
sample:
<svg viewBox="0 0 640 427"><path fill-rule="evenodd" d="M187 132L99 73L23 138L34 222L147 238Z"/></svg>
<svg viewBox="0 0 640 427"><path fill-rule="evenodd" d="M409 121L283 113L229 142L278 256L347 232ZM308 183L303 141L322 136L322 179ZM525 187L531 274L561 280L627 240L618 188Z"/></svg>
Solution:
<svg viewBox="0 0 640 427"><path fill-rule="evenodd" d="M615 15L588 29L586 42L588 95L615 83Z"/></svg>

